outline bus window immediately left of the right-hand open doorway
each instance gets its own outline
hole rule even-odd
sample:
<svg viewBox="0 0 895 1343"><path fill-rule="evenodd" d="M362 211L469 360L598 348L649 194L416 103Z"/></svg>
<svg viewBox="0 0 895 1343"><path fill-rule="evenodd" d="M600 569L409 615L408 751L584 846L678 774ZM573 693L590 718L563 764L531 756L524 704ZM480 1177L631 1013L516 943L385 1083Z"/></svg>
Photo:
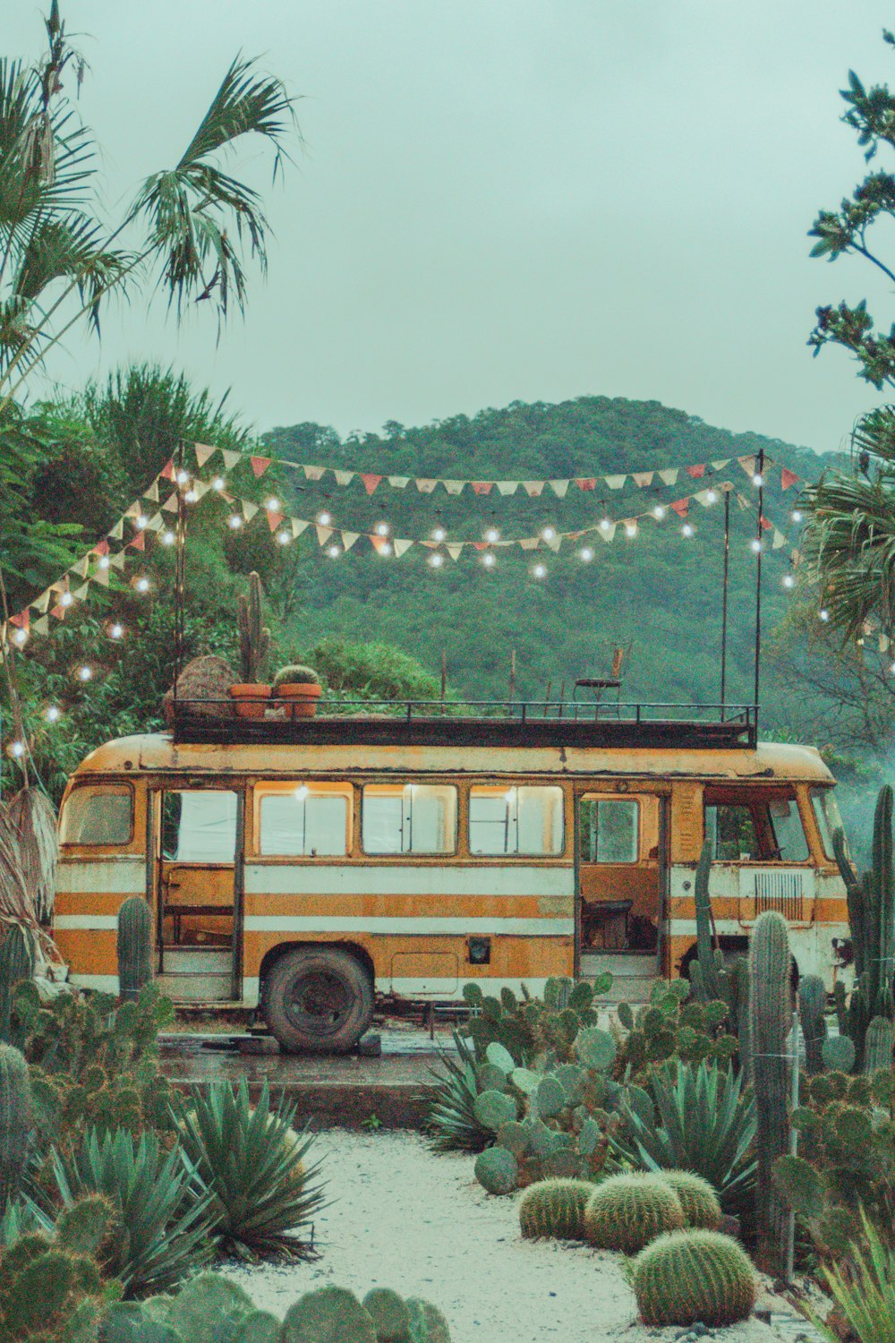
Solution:
<svg viewBox="0 0 895 1343"><path fill-rule="evenodd" d="M470 851L562 853L562 788L470 788Z"/></svg>

